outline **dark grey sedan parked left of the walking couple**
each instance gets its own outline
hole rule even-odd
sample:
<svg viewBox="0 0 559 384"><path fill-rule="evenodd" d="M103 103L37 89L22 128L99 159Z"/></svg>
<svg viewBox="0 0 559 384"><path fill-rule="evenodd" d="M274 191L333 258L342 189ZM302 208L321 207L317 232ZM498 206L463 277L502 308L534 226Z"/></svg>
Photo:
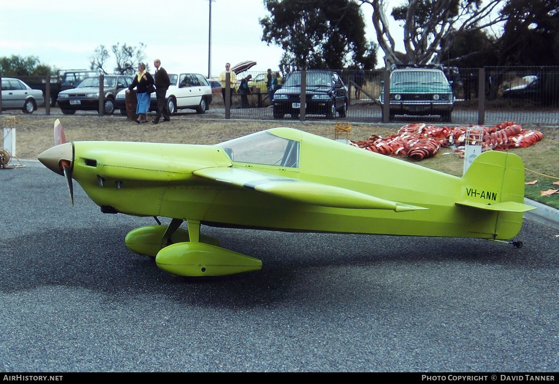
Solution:
<svg viewBox="0 0 559 384"><path fill-rule="evenodd" d="M99 76L88 77L79 85L58 94L58 106L65 115L73 115L75 111L99 110ZM104 110L107 115L115 112L116 94L132 84L132 78L125 75L105 75L103 91L105 92Z"/></svg>

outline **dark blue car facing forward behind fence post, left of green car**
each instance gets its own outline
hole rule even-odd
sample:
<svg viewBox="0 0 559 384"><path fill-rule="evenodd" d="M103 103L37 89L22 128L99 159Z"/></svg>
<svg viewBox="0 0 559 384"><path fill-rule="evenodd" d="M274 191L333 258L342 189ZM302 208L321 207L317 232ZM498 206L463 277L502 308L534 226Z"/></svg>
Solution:
<svg viewBox="0 0 559 384"><path fill-rule="evenodd" d="M307 115L326 115L335 118L336 113L345 117L348 110L348 88L338 73L331 70L307 70L306 79ZM299 116L301 108L301 72L291 73L273 96L274 118L282 118L286 113Z"/></svg>

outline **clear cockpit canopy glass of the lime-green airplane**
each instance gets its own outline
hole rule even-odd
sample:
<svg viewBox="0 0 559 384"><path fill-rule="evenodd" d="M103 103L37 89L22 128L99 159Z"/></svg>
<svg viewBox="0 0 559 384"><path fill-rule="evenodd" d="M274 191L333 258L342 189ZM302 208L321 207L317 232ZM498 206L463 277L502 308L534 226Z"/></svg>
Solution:
<svg viewBox="0 0 559 384"><path fill-rule="evenodd" d="M234 162L299 167L299 141L280 138L270 132L256 132L217 146Z"/></svg>

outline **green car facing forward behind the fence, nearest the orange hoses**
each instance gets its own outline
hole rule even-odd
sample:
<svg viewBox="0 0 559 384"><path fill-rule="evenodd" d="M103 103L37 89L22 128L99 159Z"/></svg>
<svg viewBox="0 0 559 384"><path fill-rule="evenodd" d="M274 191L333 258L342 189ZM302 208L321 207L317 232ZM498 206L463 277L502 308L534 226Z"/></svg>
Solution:
<svg viewBox="0 0 559 384"><path fill-rule="evenodd" d="M380 101L384 104L384 90ZM390 74L390 120L396 115L439 115L451 122L454 94L444 72L437 68L397 68Z"/></svg>

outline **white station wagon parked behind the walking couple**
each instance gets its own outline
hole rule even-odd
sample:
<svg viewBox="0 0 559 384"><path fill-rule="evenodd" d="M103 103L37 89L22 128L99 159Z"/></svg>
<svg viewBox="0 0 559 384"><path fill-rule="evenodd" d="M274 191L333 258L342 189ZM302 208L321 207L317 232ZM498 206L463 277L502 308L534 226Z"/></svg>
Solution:
<svg viewBox="0 0 559 384"><path fill-rule="evenodd" d="M171 85L167 89L165 98L169 114L178 110L190 108L197 113L204 113L209 109L212 101L210 84L206 78L197 73L169 74ZM122 115L126 115L126 89L116 95L116 108L120 108ZM155 92L151 93L150 111L157 111Z"/></svg>

